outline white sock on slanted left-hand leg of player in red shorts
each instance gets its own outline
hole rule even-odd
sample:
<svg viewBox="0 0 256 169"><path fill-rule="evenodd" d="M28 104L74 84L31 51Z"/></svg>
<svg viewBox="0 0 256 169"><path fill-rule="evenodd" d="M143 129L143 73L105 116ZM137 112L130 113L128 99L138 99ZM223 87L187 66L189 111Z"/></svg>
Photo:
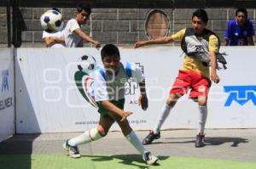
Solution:
<svg viewBox="0 0 256 169"><path fill-rule="evenodd" d="M154 133L160 132L160 128L166 121L167 116L170 114L170 111L172 110L172 107L170 107L168 104L164 105L162 110L160 111L160 114L157 116L157 119L154 123Z"/></svg>

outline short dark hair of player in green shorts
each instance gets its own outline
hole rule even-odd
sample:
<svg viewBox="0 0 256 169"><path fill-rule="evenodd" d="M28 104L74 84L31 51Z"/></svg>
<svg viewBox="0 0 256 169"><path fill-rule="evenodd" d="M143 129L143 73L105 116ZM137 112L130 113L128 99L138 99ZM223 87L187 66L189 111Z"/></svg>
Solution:
<svg viewBox="0 0 256 169"><path fill-rule="evenodd" d="M117 48L113 44L106 44L101 51L102 60L107 57L116 57L116 59L120 59L119 48Z"/></svg>

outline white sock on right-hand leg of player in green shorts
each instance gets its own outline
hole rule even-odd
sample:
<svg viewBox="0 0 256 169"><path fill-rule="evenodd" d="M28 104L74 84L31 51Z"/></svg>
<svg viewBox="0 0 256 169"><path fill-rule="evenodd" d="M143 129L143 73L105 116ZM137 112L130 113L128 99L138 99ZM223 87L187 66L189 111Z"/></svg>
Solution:
<svg viewBox="0 0 256 169"><path fill-rule="evenodd" d="M147 149L143 146L141 140L137 138L137 134L131 130L130 134L125 136L127 140L140 152L141 155L144 155L144 153L148 152Z"/></svg>

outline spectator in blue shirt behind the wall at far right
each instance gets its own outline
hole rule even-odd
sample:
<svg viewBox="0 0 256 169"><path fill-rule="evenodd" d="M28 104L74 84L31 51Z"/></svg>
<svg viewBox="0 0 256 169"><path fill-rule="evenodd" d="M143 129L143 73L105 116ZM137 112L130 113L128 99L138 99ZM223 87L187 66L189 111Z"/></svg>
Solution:
<svg viewBox="0 0 256 169"><path fill-rule="evenodd" d="M254 45L252 20L247 19L247 9L237 8L235 20L230 20L225 31L226 46Z"/></svg>

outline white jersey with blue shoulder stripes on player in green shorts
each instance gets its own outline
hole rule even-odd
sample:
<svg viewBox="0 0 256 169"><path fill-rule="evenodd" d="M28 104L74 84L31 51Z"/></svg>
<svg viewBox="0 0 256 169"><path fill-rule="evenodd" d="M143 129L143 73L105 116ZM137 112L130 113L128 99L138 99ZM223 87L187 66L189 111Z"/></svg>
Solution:
<svg viewBox="0 0 256 169"><path fill-rule="evenodd" d="M120 62L119 70L115 74L107 72L103 66L100 65L96 69L90 94L94 96L96 102L124 99L125 82L127 82L130 77L136 82L143 82L144 80L142 70L137 65L131 65L129 62Z"/></svg>

